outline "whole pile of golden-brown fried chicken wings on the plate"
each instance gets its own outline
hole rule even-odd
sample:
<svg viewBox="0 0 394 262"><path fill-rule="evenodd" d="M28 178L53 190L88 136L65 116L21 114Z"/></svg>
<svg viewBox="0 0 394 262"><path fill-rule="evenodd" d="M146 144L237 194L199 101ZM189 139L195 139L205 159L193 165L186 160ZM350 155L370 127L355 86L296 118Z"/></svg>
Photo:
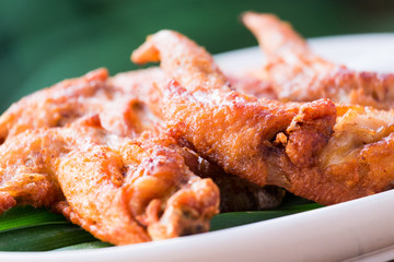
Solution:
<svg viewBox="0 0 394 262"><path fill-rule="evenodd" d="M160 68L99 69L13 104L0 117L0 214L46 206L128 245L276 207L285 189L324 205L391 189L394 74L328 62L275 15L242 19L262 68L223 73L160 31L131 56Z"/></svg>

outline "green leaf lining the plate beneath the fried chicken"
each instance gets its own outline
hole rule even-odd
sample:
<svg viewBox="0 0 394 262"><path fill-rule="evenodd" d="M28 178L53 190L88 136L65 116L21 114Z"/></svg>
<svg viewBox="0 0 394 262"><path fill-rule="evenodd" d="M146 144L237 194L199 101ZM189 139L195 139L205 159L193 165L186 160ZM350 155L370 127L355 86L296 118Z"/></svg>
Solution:
<svg viewBox="0 0 394 262"><path fill-rule="evenodd" d="M277 210L219 214L211 221L211 230L297 214L321 206L288 194ZM62 251L111 246L72 225L62 215L45 209L19 206L0 216L0 251Z"/></svg>

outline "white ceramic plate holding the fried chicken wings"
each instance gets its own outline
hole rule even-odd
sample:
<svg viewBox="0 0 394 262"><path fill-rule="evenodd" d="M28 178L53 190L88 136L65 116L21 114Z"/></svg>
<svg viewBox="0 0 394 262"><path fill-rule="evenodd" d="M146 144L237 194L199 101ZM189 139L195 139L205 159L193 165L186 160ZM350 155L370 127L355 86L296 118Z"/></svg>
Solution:
<svg viewBox="0 0 394 262"><path fill-rule="evenodd" d="M333 61L394 72L394 34L311 40ZM224 71L258 67L258 48L216 57ZM394 258L394 190L297 215L158 242L95 250L0 252L0 261L386 261Z"/></svg>

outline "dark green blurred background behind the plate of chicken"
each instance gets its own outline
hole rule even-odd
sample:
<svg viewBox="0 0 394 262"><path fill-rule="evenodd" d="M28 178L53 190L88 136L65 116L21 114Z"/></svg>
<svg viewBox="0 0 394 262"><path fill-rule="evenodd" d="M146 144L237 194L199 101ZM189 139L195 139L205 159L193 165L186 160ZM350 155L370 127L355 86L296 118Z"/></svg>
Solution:
<svg viewBox="0 0 394 262"><path fill-rule="evenodd" d="M305 37L394 32L394 1L1 0L0 110L99 67L137 68L131 50L162 28L212 53L256 45L239 20L246 10L276 13Z"/></svg>

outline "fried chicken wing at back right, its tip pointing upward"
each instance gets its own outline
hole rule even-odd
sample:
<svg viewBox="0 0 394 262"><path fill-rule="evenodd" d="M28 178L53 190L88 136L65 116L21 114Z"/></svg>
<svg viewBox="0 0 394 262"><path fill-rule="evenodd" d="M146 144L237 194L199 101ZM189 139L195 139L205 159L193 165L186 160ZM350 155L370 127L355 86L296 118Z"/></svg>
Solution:
<svg viewBox="0 0 394 262"><path fill-rule="evenodd" d="M378 109L394 107L394 74L356 72L326 61L273 14L247 12L242 19L267 56L260 78L273 83L281 100L331 98Z"/></svg>

